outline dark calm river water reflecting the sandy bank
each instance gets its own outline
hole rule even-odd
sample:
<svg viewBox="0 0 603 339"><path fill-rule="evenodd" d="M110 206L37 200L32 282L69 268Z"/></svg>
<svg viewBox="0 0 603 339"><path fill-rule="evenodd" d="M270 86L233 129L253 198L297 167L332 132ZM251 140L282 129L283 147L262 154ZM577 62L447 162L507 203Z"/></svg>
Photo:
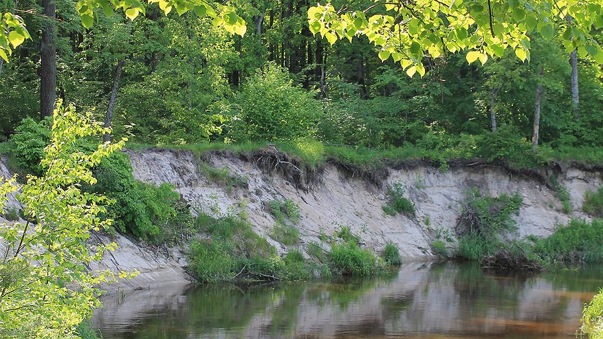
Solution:
<svg viewBox="0 0 603 339"><path fill-rule="evenodd" d="M105 339L575 338L602 267L538 275L402 266L342 282L140 291L105 300Z"/></svg>

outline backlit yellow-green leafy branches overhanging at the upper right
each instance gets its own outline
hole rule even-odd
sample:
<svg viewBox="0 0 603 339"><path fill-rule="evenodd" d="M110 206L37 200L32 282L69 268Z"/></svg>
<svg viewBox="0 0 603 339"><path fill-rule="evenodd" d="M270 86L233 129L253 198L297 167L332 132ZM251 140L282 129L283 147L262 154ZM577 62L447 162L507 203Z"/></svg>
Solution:
<svg viewBox="0 0 603 339"><path fill-rule="evenodd" d="M371 8L384 14L369 16ZM603 28L602 8L603 0L395 0L375 1L364 11L338 11L327 2L309 8L308 23L313 34L331 45L366 36L382 61L391 57L413 76L421 74L424 58L446 52L468 50L469 63L483 64L510 48L521 61L529 61L529 34L534 31L547 40L560 39L568 52L577 49L601 62L591 30Z"/></svg>

